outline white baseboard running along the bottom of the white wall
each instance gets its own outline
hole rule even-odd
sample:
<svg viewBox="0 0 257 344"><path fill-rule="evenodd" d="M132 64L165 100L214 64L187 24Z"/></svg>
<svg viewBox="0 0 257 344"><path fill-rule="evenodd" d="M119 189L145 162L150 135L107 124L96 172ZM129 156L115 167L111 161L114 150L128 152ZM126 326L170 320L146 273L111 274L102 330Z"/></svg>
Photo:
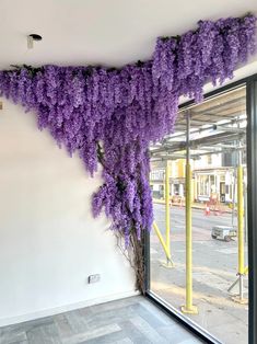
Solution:
<svg viewBox="0 0 257 344"><path fill-rule="evenodd" d="M104 296L104 297L101 297L97 299L90 299L90 300L79 301L75 303L43 309L43 310L32 312L32 313L20 314L20 316L14 316L14 317L9 317L9 318L2 318L2 319L0 319L0 328L15 324L15 323L21 323L24 321L50 317L50 316L68 312L71 310L89 307L89 306L94 306L94 305L105 303L105 302L109 302L109 301L114 301L114 300L119 300L119 299L136 296L139 294L140 294L139 291L135 291L135 290L120 293L120 294L114 294L114 295L112 294L112 295L107 295L107 296Z"/></svg>

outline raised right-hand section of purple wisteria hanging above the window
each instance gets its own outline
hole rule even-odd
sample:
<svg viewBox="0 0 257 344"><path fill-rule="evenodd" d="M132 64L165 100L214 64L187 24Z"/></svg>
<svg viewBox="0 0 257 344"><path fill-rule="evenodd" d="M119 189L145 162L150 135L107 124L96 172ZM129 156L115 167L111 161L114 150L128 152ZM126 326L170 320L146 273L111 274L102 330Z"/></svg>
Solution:
<svg viewBox="0 0 257 344"><path fill-rule="evenodd" d="M200 102L207 81L222 83L255 51L256 16L199 21L196 31L177 37L159 37L153 54L153 82L172 99L189 96ZM171 104L170 98L166 106ZM162 108L164 104L162 103Z"/></svg>

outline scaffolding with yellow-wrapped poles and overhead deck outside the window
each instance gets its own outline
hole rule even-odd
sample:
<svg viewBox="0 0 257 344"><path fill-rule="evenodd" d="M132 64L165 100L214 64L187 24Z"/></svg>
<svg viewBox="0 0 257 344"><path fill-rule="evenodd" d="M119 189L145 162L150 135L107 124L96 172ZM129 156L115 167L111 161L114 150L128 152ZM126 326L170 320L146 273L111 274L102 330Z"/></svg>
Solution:
<svg viewBox="0 0 257 344"><path fill-rule="evenodd" d="M237 88L230 92L243 94L245 87ZM221 95L224 96L224 95ZM229 106L227 106L229 104ZM231 106L234 106L232 111ZM170 180L167 180L168 161L176 159L186 159L186 302L182 306L184 313L196 314L198 309L192 302L192 237L191 237L191 167L190 159L197 160L202 156L237 152L237 275L236 282L229 288L231 291L234 286L240 284L240 294L234 301L245 303L243 295L244 276L248 273L248 267L244 262L244 195L243 195L243 164L242 152L246 150L246 113L245 113L245 94L236 99L229 100L222 105L220 102L211 107L211 112L198 111L192 105L183 110L178 114L176 128L178 134L168 135L161 145L151 148L152 161L165 162L165 226L166 226L166 241L162 238L157 225L154 222L154 230L166 254L167 265L171 262L171 228L170 228ZM223 108L222 108L223 107ZM226 115L222 116L217 111L225 110ZM235 108L235 110L234 110ZM209 108L210 110L210 108ZM207 136L196 138L194 136ZM179 140L180 138L180 140ZM222 142L222 144L221 144ZM225 144L227 142L227 144ZM167 192L168 191L168 192Z"/></svg>

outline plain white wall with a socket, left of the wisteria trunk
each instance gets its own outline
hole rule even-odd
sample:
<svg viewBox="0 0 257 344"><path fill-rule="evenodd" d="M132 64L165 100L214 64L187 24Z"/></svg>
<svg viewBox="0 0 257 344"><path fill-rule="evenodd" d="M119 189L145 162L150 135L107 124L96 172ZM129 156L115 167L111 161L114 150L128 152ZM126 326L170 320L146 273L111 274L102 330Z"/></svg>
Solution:
<svg viewBox="0 0 257 344"><path fill-rule="evenodd" d="M93 219L91 179L33 113L0 111L0 326L129 296L133 273L104 216ZM87 284L90 274L101 282Z"/></svg>

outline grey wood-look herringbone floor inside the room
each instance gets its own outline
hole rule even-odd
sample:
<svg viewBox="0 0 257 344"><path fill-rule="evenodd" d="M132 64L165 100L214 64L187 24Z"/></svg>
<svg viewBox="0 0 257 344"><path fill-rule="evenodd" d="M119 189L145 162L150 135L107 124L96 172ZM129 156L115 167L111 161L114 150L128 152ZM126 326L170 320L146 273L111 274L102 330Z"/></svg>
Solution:
<svg viewBox="0 0 257 344"><path fill-rule="evenodd" d="M141 296L0 328L1 344L202 343Z"/></svg>

